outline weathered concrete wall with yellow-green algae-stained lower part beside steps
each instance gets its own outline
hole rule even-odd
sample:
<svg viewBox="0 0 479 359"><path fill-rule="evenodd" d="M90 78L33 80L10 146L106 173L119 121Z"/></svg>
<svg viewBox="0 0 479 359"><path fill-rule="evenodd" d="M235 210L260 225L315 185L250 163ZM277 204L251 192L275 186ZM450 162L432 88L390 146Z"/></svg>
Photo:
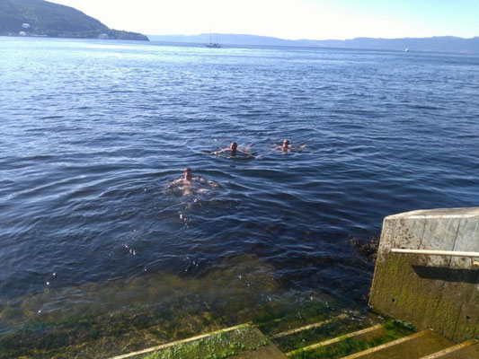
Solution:
<svg viewBox="0 0 479 359"><path fill-rule="evenodd" d="M471 258L396 254L391 249L479 251L479 207L385 218L369 304L454 341L479 336L479 267ZM479 260L479 258L475 258Z"/></svg>

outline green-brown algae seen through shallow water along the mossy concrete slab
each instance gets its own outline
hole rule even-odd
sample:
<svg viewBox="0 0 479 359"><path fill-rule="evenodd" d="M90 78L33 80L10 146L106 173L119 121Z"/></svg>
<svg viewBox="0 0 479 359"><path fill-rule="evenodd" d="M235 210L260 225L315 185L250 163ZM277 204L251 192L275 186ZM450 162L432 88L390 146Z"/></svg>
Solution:
<svg viewBox="0 0 479 359"><path fill-rule="evenodd" d="M245 322L267 329L260 328L269 336L269 333L301 327L350 310L345 303L311 300L312 295L307 293L303 298L294 293L273 297L237 311L227 302L211 302L209 297L189 294L172 302L103 315L58 322L38 320L0 335L0 358L110 357Z"/></svg>

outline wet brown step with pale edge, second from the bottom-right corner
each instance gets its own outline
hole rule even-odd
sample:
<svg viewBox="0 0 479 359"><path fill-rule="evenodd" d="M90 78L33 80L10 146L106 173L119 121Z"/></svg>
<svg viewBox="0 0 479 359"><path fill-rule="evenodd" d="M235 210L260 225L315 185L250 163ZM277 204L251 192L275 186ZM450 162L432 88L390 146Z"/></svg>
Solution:
<svg viewBox="0 0 479 359"><path fill-rule="evenodd" d="M343 359L420 359L439 352L454 343L433 330L423 330L408 337L376 346Z"/></svg>

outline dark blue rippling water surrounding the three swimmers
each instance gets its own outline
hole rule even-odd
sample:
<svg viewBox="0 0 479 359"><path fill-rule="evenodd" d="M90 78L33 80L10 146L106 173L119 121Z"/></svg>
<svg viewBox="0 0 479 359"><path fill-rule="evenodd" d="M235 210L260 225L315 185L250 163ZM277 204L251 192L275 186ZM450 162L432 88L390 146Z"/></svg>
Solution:
<svg viewBox="0 0 479 359"><path fill-rule="evenodd" d="M351 238L478 206L478 94L466 55L0 38L0 320L88 311L102 288L114 310L166 276L208 292L223 272L255 273L258 302L364 302L373 264ZM284 138L305 151L271 152ZM232 140L256 158L204 153ZM185 166L221 187L165 191Z"/></svg>

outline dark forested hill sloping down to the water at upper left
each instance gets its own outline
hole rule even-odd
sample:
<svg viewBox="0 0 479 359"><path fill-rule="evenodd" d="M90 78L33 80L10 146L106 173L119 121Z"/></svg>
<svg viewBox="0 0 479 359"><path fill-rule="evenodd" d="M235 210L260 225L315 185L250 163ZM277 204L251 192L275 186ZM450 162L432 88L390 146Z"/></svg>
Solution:
<svg viewBox="0 0 479 359"><path fill-rule="evenodd" d="M45 0L0 0L0 35L18 35L21 31L24 35L58 38L148 40L137 32L109 29L73 7Z"/></svg>

